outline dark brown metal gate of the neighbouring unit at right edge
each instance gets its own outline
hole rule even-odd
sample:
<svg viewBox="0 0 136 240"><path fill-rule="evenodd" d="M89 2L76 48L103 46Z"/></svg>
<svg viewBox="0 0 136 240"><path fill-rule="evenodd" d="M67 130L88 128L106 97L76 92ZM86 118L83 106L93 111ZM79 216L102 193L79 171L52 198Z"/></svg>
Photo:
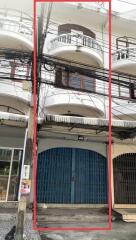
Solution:
<svg viewBox="0 0 136 240"><path fill-rule="evenodd" d="M113 159L115 204L136 204L136 154Z"/></svg>

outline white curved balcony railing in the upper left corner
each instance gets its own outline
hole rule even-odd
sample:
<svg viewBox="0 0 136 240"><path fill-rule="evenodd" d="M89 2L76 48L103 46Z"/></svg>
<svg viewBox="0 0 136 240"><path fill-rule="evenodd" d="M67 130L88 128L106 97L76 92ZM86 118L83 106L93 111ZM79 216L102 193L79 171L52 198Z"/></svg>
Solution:
<svg viewBox="0 0 136 240"><path fill-rule="evenodd" d="M17 33L32 40L32 18L26 13L16 10L0 9L0 31Z"/></svg>

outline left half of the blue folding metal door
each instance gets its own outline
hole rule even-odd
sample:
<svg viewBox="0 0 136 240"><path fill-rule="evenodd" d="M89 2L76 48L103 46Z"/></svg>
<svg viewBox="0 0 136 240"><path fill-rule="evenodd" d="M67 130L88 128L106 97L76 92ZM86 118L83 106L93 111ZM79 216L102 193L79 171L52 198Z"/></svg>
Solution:
<svg viewBox="0 0 136 240"><path fill-rule="evenodd" d="M54 148L39 154L37 165L37 201L70 203L72 149Z"/></svg>

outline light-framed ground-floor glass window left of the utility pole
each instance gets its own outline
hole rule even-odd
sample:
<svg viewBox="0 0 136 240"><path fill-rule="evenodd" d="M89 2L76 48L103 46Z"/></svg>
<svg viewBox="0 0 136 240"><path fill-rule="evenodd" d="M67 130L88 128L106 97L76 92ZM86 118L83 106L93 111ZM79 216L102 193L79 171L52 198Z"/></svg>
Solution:
<svg viewBox="0 0 136 240"><path fill-rule="evenodd" d="M0 148L0 201L18 200L22 152Z"/></svg>

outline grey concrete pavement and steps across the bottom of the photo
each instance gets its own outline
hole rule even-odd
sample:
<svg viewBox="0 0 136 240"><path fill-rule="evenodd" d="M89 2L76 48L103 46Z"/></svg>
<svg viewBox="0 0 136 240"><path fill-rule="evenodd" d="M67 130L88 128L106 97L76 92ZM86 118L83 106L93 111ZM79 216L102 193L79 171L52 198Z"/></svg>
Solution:
<svg viewBox="0 0 136 240"><path fill-rule="evenodd" d="M77 213L76 210L68 210L67 214L65 212L63 215L64 212L63 209L53 209L51 213L51 210L48 209L47 214L47 211L40 210L38 211L39 220L37 218L37 223L39 226L44 223L44 227L57 227L57 224L58 227L75 227L75 224L77 227L107 226L107 213L103 210L78 209ZM5 235L16 224L16 220L17 209L0 208L0 240L4 240ZM108 231L42 231L38 233L32 229L32 213L30 211L26 215L24 234L28 240L136 240L136 223L126 223L121 219L114 218L112 230Z"/></svg>

